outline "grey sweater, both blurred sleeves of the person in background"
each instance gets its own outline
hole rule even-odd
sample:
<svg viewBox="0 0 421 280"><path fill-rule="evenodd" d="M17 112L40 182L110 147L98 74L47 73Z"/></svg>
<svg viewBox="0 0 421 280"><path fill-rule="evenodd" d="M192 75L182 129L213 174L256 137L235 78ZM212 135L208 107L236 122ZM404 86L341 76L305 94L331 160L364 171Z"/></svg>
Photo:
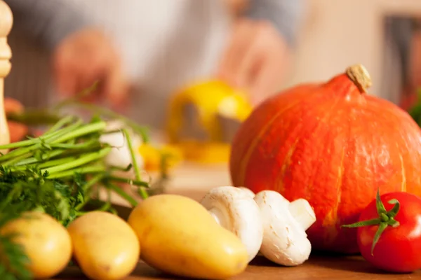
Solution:
<svg viewBox="0 0 421 280"><path fill-rule="evenodd" d="M27 31L48 48L53 48L73 31L94 25L90 18L81 15L66 1L5 1L13 11L15 25ZM302 8L302 0L250 0L245 16L272 22L286 42L293 45Z"/></svg>

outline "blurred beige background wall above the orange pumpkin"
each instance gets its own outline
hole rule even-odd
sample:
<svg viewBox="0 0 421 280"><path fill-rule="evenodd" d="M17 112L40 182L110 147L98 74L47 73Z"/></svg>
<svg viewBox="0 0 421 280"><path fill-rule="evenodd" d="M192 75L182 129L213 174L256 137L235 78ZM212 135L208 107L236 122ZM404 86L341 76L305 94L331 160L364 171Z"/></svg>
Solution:
<svg viewBox="0 0 421 280"><path fill-rule="evenodd" d="M371 94L398 102L401 66L387 46L385 19L421 16L419 0L307 0L293 68L283 88L326 80L362 63L373 78ZM409 51L409 50L408 50Z"/></svg>

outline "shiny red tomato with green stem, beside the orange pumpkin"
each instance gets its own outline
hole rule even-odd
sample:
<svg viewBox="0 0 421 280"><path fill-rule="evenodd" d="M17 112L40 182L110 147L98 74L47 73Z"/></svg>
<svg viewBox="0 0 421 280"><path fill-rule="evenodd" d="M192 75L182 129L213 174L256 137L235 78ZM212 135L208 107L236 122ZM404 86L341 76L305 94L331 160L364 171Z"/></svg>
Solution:
<svg viewBox="0 0 421 280"><path fill-rule="evenodd" d="M361 212L359 223L342 226L358 227L361 255L375 267L388 272L421 269L420 197L401 192L381 196L377 193L377 199Z"/></svg>

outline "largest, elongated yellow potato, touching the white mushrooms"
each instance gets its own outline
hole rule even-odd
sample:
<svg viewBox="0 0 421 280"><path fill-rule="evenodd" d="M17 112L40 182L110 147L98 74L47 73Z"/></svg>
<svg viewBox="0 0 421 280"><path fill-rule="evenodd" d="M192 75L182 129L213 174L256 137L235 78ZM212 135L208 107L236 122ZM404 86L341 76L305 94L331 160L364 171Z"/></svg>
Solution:
<svg viewBox="0 0 421 280"><path fill-rule="evenodd" d="M133 209L128 223L141 258L163 272L201 279L227 279L246 269L246 247L204 207L180 195L156 195Z"/></svg>

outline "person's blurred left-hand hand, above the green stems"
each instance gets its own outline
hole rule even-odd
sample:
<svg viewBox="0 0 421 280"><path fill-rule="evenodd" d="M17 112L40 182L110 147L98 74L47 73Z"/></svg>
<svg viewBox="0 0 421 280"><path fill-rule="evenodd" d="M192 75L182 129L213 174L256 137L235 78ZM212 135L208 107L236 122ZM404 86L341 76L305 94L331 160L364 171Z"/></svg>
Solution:
<svg viewBox="0 0 421 280"><path fill-rule="evenodd" d="M126 102L129 86L119 54L98 29L78 31L58 45L53 53L53 76L61 94L76 94L98 80L92 99L102 97L115 106Z"/></svg>

